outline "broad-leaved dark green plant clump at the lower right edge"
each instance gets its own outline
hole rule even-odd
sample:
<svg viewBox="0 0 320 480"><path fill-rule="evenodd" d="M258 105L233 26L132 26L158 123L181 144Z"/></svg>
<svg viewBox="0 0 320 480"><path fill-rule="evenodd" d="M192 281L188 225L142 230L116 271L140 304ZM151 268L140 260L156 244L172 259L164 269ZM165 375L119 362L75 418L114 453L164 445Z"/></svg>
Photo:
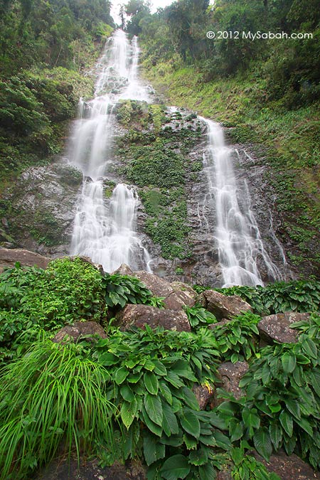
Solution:
<svg viewBox="0 0 320 480"><path fill-rule="evenodd" d="M297 343L262 348L240 380L245 397L221 392L228 400L216 411L228 423L231 442L251 440L267 460L283 447L319 467L319 323L314 315L307 329L297 324L311 332L300 334Z"/></svg>

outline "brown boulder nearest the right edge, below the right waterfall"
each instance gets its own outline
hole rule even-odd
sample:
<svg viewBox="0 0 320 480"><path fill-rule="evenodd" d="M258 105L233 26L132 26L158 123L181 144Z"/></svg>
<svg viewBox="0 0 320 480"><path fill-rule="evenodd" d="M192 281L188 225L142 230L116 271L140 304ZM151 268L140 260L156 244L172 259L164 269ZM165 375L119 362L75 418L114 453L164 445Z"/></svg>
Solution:
<svg viewBox="0 0 320 480"><path fill-rule="evenodd" d="M309 319L309 314L299 314L294 311L286 311L284 314L274 314L262 317L257 328L262 339L270 343L297 343L299 331L291 329L290 325L295 321Z"/></svg>

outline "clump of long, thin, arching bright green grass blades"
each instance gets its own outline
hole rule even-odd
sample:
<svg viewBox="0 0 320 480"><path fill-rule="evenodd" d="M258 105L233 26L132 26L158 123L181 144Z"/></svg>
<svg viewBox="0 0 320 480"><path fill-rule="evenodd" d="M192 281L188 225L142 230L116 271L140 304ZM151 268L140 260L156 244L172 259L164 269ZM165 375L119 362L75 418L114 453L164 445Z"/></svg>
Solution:
<svg viewBox="0 0 320 480"><path fill-rule="evenodd" d="M0 376L0 480L23 479L57 454L114 448L104 367L83 346L42 338Z"/></svg>

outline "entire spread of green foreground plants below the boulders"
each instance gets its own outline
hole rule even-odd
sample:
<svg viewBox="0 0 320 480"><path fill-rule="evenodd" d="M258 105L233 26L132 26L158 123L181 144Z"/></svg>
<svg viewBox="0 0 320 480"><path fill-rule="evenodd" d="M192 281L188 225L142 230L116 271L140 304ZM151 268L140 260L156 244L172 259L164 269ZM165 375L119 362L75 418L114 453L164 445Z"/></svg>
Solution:
<svg viewBox="0 0 320 480"><path fill-rule="evenodd" d="M1 480L28 479L58 452L90 455L102 466L139 459L149 480L208 480L225 468L238 480L279 480L247 454L252 449L269 459L283 447L317 468L318 314L293 325L297 343L264 348L260 316L242 314L208 329L216 319L200 306L186 308L193 333L109 325L107 338L59 345L49 338L62 324L105 324L128 302L159 307L161 299L138 279L102 274L80 258L55 260L46 271L17 265L0 281L6 355L0 370ZM305 304L301 299L295 309L311 309L308 295L319 294L316 284L278 284L274 299L292 297L289 289L299 296L297 287L304 288ZM257 299L246 294L253 306ZM200 410L194 385L217 388L219 363L239 360L250 365L241 383L244 396L236 400L219 390L225 401Z"/></svg>

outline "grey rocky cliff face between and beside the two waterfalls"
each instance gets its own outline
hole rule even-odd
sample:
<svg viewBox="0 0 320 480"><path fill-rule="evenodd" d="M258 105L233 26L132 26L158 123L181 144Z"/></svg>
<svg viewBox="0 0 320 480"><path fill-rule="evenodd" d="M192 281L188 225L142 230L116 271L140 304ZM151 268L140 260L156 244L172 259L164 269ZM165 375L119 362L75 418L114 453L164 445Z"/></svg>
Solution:
<svg viewBox="0 0 320 480"><path fill-rule="evenodd" d="M140 198L137 228L154 258L154 272L171 280L220 286L215 207L208 201L203 171L206 125L187 110L130 100L121 102L115 114L118 127L105 181L106 203L118 181L133 184ZM266 250L288 277L274 234L279 222L265 181L267 167L240 145L234 145L233 161L239 188L250 192ZM63 162L24 171L5 193L10 208L1 220L2 246L49 256L68 254L81 181L80 171ZM267 281L263 267L261 274Z"/></svg>

